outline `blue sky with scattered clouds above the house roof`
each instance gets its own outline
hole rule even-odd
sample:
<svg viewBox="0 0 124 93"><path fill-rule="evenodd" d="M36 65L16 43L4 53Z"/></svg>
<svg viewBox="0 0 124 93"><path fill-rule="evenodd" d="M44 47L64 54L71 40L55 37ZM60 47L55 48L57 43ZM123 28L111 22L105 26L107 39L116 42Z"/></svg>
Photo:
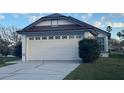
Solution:
<svg viewBox="0 0 124 93"><path fill-rule="evenodd" d="M0 25L16 26L24 28L25 26L36 21L40 17L50 13L2 13L0 14ZM108 25L112 26L112 38L117 38L117 32L124 29L123 13L62 13L63 15L75 17L81 21L106 30Z"/></svg>

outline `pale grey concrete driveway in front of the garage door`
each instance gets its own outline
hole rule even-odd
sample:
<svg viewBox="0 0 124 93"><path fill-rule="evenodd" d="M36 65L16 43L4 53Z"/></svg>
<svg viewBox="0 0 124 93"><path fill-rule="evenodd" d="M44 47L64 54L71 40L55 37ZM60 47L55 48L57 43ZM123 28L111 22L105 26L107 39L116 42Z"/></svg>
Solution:
<svg viewBox="0 0 124 93"><path fill-rule="evenodd" d="M43 61L19 62L0 68L2 80L62 80L73 71L79 62Z"/></svg>

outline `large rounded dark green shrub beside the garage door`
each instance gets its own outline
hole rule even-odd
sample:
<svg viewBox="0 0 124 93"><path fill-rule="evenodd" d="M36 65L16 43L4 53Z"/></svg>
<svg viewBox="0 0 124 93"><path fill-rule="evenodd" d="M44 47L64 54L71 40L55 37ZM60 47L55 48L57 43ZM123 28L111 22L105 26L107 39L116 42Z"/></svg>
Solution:
<svg viewBox="0 0 124 93"><path fill-rule="evenodd" d="M79 42L79 57L83 62L94 62L100 56L100 47L95 39L83 39Z"/></svg>

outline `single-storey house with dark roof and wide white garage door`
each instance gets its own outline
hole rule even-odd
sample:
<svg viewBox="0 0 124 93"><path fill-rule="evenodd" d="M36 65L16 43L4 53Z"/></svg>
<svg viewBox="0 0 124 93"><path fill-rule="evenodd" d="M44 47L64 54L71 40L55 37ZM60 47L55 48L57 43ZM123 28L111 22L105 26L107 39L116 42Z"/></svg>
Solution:
<svg viewBox="0 0 124 93"><path fill-rule="evenodd" d="M83 38L97 38L101 56L108 57L110 33L58 13L40 18L17 31L22 36L22 61L80 60L78 43Z"/></svg>

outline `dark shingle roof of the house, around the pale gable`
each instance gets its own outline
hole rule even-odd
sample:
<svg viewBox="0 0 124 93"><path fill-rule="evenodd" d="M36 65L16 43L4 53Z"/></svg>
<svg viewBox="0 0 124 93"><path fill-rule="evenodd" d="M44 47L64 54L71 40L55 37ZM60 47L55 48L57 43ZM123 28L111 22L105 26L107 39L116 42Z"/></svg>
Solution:
<svg viewBox="0 0 124 93"><path fill-rule="evenodd" d="M68 20L72 23L74 23L75 25L64 25L64 26L58 26L58 27L52 27L52 26L42 26L42 27L36 27L35 25L42 22L42 21L45 21L45 20L48 20L48 19L65 19L65 20ZM55 13L55 14L51 14L51 15L48 15L48 16L45 16L45 17L41 17L39 20L35 21L34 23L28 25L27 27L23 28L22 30L20 31L17 31L18 33L20 34L23 34L24 32L41 32L41 31L52 31L52 30L55 30L55 31L71 31L71 30L83 30L84 29L86 31L90 31L92 34L94 35L97 35L98 33L103 33L103 34L106 34L109 38L111 36L110 33L104 31L104 30L101 30L97 27L94 27L88 23L85 23L85 22L82 22L76 18L73 18L71 16L64 16L64 15L61 15L61 14L58 14L58 13ZM89 29L92 29L92 30L89 30Z"/></svg>

